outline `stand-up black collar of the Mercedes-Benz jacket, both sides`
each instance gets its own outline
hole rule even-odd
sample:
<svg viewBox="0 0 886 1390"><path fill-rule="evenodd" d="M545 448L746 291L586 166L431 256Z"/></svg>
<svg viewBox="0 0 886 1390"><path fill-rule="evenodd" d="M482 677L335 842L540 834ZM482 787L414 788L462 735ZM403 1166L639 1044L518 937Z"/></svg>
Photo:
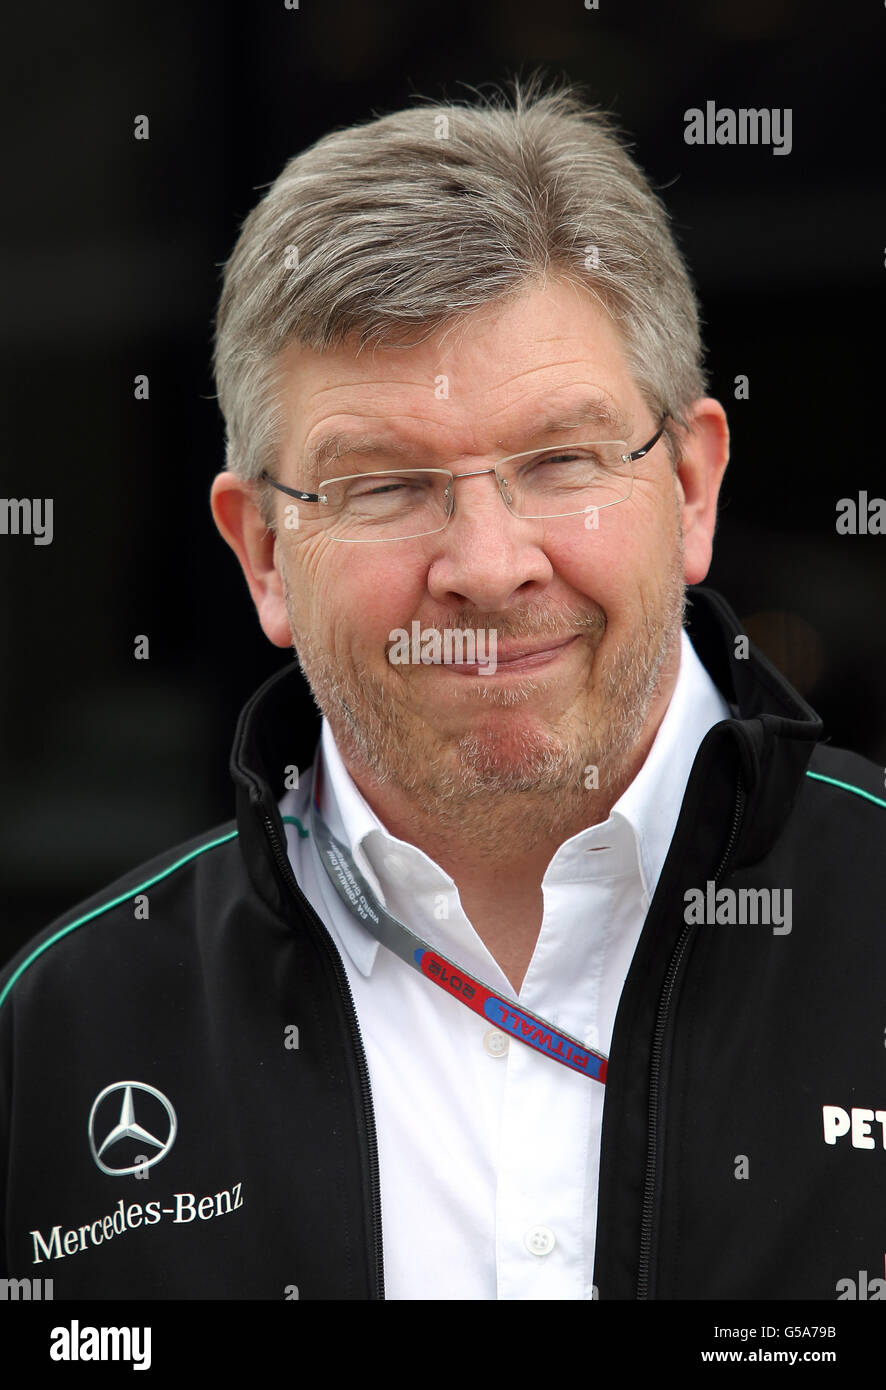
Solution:
<svg viewBox="0 0 886 1390"><path fill-rule="evenodd" d="M741 776L746 813L730 858L733 866L748 865L762 858L784 823L822 737L822 723L747 642L736 614L719 594L691 588L688 600L687 631L695 652L736 710L734 719L709 731L702 752L719 758L729 769L725 780L730 784L736 773ZM293 660L246 702L234 738L229 766L243 855L256 888L282 915L288 913L291 898L284 880L288 860L277 803L292 769L303 773L313 763L320 731L320 710ZM725 806L705 808L714 809L723 812ZM722 815L716 820L722 821ZM716 828L719 833L720 827Z"/></svg>

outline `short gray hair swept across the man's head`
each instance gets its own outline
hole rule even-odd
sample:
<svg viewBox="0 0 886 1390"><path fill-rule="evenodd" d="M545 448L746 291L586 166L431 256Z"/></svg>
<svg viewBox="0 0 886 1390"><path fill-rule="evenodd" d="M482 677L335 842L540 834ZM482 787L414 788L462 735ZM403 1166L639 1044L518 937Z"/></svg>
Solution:
<svg viewBox="0 0 886 1390"><path fill-rule="evenodd" d="M662 202L573 83L533 75L512 101L427 101L323 136L288 161L225 265L227 467L273 471L291 342L416 345L548 274L606 309L643 399L686 428L705 392L693 284Z"/></svg>

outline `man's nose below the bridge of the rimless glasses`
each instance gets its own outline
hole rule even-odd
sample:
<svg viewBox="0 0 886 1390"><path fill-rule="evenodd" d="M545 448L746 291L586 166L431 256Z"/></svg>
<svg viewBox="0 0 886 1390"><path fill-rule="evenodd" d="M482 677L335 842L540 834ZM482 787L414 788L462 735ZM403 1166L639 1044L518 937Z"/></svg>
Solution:
<svg viewBox="0 0 886 1390"><path fill-rule="evenodd" d="M544 523L513 516L494 468L453 474L452 496L448 525L428 538L438 542L428 569L433 598L498 610L551 581Z"/></svg>

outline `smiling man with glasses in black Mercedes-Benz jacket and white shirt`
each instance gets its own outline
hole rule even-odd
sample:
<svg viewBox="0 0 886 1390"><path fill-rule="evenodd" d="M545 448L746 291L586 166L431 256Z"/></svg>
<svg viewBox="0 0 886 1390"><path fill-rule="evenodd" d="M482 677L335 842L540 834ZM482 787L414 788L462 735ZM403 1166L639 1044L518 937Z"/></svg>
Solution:
<svg viewBox="0 0 886 1390"><path fill-rule="evenodd" d="M829 1298L878 1268L886 801L716 595L683 630L727 461L700 359L663 208L567 90L287 165L225 271L211 505L323 720L291 664L236 821L7 969L11 1273Z"/></svg>

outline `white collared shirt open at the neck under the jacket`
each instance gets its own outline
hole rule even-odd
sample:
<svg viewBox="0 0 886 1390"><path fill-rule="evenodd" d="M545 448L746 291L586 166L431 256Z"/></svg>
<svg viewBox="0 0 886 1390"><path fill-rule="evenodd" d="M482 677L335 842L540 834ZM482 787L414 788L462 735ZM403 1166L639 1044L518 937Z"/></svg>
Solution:
<svg viewBox="0 0 886 1390"><path fill-rule="evenodd" d="M608 820L565 841L519 1002L609 1052L619 997L704 735L729 706L686 632L650 753ZM320 809L388 912L513 999L453 880L396 840L323 721ZM312 776L280 802L307 826ZM491 1029L341 902L313 837L285 821L295 877L351 983L376 1111L388 1298L591 1298L605 1087Z"/></svg>

